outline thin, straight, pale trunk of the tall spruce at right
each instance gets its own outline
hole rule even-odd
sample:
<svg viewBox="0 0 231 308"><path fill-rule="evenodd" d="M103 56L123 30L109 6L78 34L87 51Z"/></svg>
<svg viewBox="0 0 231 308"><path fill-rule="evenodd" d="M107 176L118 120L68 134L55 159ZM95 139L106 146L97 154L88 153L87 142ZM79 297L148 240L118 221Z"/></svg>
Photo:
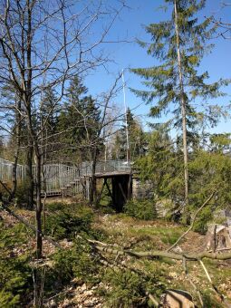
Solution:
<svg viewBox="0 0 231 308"><path fill-rule="evenodd" d="M185 207L188 205L188 144L187 144L187 119L186 119L187 112L186 112L186 97L185 97L185 91L184 91L181 53L180 53L179 34L178 34L177 0L174 0L174 12L175 12L175 31L176 31L176 38L177 38L177 51L178 51L178 79L179 79L179 89L180 89L182 132L183 132L184 178L185 178L184 209L185 209Z"/></svg>

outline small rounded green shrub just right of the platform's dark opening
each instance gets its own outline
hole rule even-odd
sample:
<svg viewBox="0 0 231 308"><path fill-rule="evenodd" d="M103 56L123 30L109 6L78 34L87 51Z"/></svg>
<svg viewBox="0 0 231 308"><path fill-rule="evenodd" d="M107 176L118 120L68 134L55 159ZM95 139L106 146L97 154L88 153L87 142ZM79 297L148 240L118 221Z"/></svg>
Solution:
<svg viewBox="0 0 231 308"><path fill-rule="evenodd" d="M153 200L130 200L124 207L124 212L130 217L151 220L157 217Z"/></svg>

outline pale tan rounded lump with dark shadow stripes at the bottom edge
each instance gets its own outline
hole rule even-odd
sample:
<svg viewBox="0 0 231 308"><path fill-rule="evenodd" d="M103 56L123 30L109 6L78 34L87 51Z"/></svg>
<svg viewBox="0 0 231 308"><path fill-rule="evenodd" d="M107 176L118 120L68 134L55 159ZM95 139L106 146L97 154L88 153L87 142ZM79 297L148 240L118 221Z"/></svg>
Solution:
<svg viewBox="0 0 231 308"><path fill-rule="evenodd" d="M163 296L164 308L194 308L192 296L182 290L167 290Z"/></svg>

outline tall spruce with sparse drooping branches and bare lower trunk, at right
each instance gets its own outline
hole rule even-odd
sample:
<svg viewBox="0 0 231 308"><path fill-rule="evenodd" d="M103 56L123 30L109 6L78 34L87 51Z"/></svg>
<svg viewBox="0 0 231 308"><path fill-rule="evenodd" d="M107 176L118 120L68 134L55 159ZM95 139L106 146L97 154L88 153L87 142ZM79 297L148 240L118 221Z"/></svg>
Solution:
<svg viewBox="0 0 231 308"><path fill-rule="evenodd" d="M165 0L172 9L171 19L159 24L149 24L146 32L152 43L139 42L148 48L148 54L159 60L159 65L133 69L132 72L144 79L149 88L146 91L133 90L144 101L155 105L150 115L160 117L174 108L171 123L175 129L181 128L184 156L185 205L188 204L188 147L198 130L199 118L206 114L198 112L193 102L198 98L205 101L222 95L219 87L226 84L219 81L206 83L208 73L199 73L199 64L204 54L211 48L207 39L214 33L210 20L199 23L197 12L204 8L204 0Z"/></svg>

